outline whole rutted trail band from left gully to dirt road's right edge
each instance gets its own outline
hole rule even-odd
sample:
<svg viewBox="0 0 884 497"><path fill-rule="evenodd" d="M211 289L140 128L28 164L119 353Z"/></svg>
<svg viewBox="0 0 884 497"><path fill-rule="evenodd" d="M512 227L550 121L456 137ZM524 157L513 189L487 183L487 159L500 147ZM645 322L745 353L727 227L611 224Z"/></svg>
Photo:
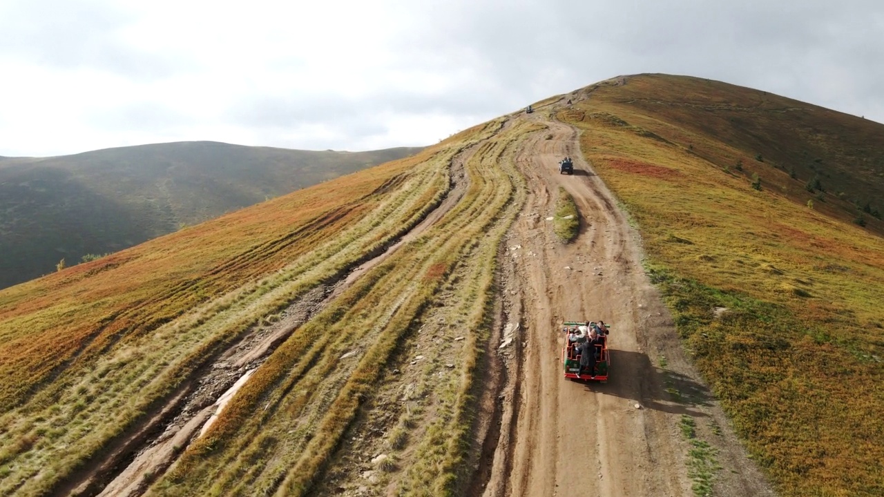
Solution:
<svg viewBox="0 0 884 497"><path fill-rule="evenodd" d="M558 172L565 156L573 176ZM679 422L726 422L711 402L667 394L667 375L690 362L644 274L637 233L583 159L575 128L543 111L500 121L449 167L448 196L422 222L220 358L216 369L244 372L284 353L261 366L278 371L265 374L278 375L275 388L240 406L241 427L222 428L224 452L186 453L176 463L186 470L172 466L148 488L144 476L164 472L214 408L185 409L190 422L104 493L690 495ZM559 187L582 219L567 245L549 220ZM584 319L611 325L606 385L562 378L560 325ZM649 349L667 356L669 372ZM693 378L679 374L678 388L705 399ZM723 494L761 494L744 455L722 452L726 468L741 469L722 477L732 490Z"/></svg>

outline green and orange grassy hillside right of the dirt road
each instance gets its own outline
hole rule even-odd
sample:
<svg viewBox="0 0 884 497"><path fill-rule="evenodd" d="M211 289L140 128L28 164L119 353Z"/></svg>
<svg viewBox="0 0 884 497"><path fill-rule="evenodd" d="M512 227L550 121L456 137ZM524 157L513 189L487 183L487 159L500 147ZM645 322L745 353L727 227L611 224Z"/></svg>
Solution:
<svg viewBox="0 0 884 497"><path fill-rule="evenodd" d="M781 493L884 493L884 126L688 77L571 97L560 119Z"/></svg>

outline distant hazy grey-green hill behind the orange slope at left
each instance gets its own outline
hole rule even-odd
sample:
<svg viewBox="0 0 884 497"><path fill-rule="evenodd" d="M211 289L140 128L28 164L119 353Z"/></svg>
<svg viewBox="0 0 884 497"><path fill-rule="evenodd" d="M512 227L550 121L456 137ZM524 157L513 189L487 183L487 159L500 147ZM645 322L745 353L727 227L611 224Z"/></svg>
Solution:
<svg viewBox="0 0 884 497"><path fill-rule="evenodd" d="M0 160L0 287L414 154L186 141Z"/></svg>

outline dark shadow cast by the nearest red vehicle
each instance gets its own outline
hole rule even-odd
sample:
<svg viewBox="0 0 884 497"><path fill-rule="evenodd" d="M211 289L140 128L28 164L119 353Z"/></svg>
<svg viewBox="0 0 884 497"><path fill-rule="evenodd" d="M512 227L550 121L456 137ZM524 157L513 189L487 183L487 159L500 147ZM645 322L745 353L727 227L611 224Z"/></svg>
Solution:
<svg viewBox="0 0 884 497"><path fill-rule="evenodd" d="M647 354L611 350L607 383L581 382L588 391L614 395L670 414L705 417L699 407L712 405L713 394L690 376L654 366Z"/></svg>

